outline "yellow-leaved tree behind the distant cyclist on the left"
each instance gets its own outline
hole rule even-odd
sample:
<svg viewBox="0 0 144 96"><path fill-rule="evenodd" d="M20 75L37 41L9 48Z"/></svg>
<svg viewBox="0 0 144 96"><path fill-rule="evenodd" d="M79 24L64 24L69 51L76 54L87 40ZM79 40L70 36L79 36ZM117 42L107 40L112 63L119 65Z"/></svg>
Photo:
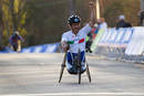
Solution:
<svg viewBox="0 0 144 96"><path fill-rule="evenodd" d="M24 29L27 18L25 0L0 0L1 13L1 43L7 45L9 36L13 31L19 31L23 36L27 34Z"/></svg>

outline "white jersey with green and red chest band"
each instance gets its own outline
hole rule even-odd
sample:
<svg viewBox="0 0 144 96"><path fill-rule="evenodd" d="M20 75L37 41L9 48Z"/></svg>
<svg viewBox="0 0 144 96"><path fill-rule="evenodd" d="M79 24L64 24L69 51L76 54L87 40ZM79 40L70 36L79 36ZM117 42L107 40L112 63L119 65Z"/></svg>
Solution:
<svg viewBox="0 0 144 96"><path fill-rule="evenodd" d="M62 41L65 41L70 44L70 51L72 53L78 53L79 49L81 51L85 51L85 40L86 40L86 35L88 33L92 30L92 28L86 24L85 26L83 26L78 34L75 35L72 31L68 31L65 33L62 34Z"/></svg>

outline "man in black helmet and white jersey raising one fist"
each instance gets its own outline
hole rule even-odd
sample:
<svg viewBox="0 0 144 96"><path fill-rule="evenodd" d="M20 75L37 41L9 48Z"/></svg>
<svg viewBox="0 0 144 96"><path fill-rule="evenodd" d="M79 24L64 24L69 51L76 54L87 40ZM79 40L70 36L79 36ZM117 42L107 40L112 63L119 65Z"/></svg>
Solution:
<svg viewBox="0 0 144 96"><path fill-rule="evenodd" d="M70 31L64 32L61 39L61 46L66 53L66 68L70 74L78 74L73 64L73 58L78 55L79 49L81 51L81 72L86 70L85 66L85 39L95 23L94 2L90 2L91 17L90 22L81 29L81 19L79 15L71 15L68 19Z"/></svg>

